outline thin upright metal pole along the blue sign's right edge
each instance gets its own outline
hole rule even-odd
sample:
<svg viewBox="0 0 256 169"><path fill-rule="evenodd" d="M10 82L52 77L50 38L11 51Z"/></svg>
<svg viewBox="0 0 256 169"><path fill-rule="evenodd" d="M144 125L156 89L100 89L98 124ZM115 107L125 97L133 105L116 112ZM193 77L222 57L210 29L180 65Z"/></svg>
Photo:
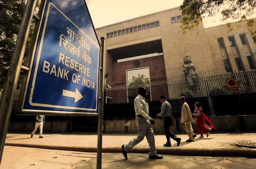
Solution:
<svg viewBox="0 0 256 169"><path fill-rule="evenodd" d="M99 83L99 102L98 102L98 139L97 139L97 169L101 169L102 158L102 122L103 122L103 61L104 61L104 42L105 37L101 37L100 55L100 83Z"/></svg>

